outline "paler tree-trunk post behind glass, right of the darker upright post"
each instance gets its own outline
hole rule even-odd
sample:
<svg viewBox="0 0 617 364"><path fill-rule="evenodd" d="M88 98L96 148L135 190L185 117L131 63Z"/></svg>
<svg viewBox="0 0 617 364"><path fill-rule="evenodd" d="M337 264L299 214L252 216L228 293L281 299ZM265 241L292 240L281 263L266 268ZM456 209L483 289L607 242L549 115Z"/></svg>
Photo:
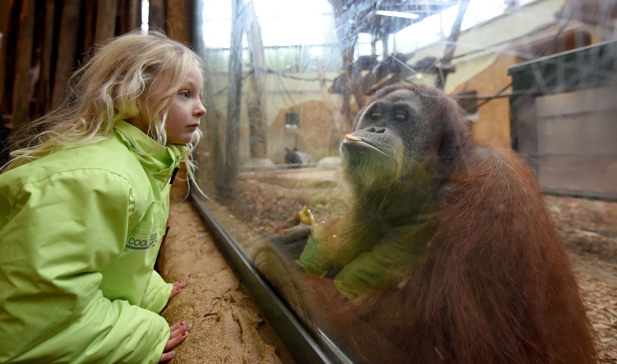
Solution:
<svg viewBox="0 0 617 364"><path fill-rule="evenodd" d="M249 109L249 150L251 158L266 158L267 156L267 123L265 111L266 61L263 55L262 31L255 14L253 2L247 5L248 26L247 38L251 54L251 88L252 97L248 102Z"/></svg>

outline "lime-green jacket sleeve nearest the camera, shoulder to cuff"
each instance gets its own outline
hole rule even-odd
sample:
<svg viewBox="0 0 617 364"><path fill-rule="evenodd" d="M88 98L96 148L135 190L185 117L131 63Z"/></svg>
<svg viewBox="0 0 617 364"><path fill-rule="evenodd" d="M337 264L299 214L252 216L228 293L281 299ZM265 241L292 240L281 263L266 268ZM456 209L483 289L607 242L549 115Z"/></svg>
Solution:
<svg viewBox="0 0 617 364"><path fill-rule="evenodd" d="M0 362L157 363L165 319L99 289L101 270L125 246L129 182L96 169L61 172L2 204Z"/></svg>

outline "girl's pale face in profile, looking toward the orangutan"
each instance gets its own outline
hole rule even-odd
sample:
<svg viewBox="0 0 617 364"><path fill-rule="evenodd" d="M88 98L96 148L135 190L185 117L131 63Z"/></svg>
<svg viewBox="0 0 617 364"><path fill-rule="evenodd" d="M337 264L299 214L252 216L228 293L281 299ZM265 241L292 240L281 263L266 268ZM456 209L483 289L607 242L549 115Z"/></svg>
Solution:
<svg viewBox="0 0 617 364"><path fill-rule="evenodd" d="M154 110L155 103L160 102L170 83L170 75L164 72L159 81L152 84L152 89L146 100L149 110ZM201 103L202 89L201 72L196 65L193 65L180 90L173 95L172 103L169 106L167 123L165 124L167 144L188 144L193 139L193 133L199 127L199 118L205 115L205 108ZM146 111L141 111L138 116L127 121L147 134L150 118Z"/></svg>

